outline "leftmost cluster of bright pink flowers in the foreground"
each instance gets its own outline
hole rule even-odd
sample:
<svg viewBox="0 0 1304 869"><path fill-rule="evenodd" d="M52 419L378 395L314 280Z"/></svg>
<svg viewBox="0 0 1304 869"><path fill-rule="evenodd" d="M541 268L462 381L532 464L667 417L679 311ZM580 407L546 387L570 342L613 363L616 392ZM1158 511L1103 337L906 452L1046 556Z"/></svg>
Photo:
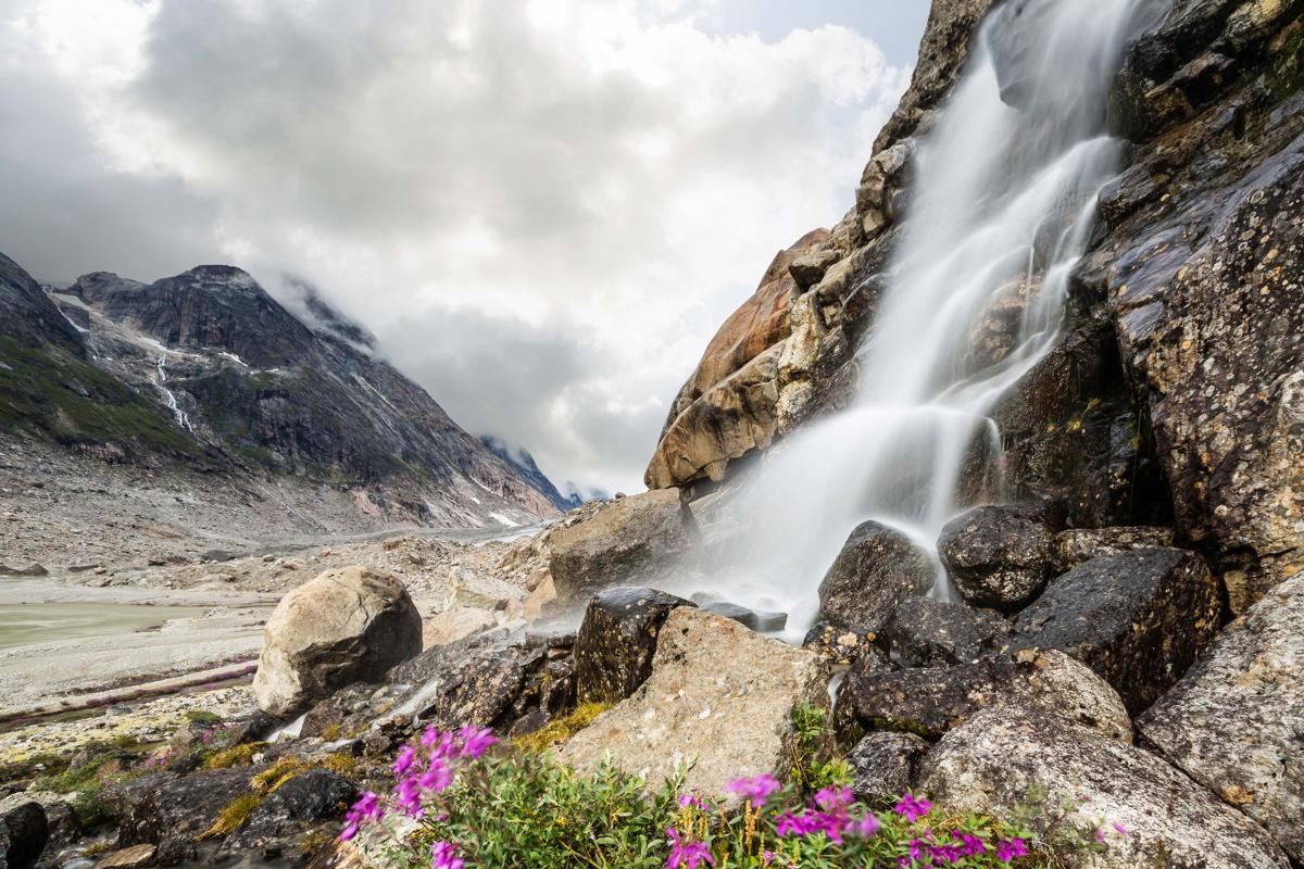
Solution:
<svg viewBox="0 0 1304 869"><path fill-rule="evenodd" d="M382 799L370 791L363 793L344 817L343 842L357 835L363 825L379 821L390 809L409 818L425 817L426 797L442 793L452 784L456 766L481 757L497 743L493 732L477 727L463 727L456 734L426 727L421 734L420 750L404 745L394 760L394 791ZM463 869L456 856L456 846L436 842L430 849L432 869Z"/></svg>

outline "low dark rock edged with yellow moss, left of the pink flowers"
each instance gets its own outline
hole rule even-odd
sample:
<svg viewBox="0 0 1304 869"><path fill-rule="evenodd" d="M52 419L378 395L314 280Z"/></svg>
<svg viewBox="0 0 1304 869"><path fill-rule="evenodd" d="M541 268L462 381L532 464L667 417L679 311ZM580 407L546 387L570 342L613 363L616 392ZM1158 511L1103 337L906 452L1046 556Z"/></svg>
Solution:
<svg viewBox="0 0 1304 869"><path fill-rule="evenodd" d="M265 856L289 851L310 825L343 817L356 797L357 786L348 779L309 770L273 791L224 848L256 848Z"/></svg>

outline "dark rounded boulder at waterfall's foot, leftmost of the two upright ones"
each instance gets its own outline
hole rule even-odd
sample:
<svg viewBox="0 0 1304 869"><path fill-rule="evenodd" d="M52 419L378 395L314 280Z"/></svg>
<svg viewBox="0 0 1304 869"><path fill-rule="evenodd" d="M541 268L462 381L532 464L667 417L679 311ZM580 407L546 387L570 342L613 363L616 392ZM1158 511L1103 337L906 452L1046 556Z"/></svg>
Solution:
<svg viewBox="0 0 1304 869"><path fill-rule="evenodd" d="M901 601L926 594L935 578L928 556L910 538L880 522L862 522L820 582L820 618L882 633Z"/></svg>

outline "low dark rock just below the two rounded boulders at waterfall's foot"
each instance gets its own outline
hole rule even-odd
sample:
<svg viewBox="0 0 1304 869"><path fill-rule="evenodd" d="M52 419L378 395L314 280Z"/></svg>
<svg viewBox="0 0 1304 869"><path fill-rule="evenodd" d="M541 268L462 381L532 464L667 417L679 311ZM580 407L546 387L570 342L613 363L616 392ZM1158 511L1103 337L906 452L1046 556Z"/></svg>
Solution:
<svg viewBox="0 0 1304 869"><path fill-rule="evenodd" d="M902 601L888 625L888 640L909 667L948 667L998 651L1009 621L988 610L951 601Z"/></svg>

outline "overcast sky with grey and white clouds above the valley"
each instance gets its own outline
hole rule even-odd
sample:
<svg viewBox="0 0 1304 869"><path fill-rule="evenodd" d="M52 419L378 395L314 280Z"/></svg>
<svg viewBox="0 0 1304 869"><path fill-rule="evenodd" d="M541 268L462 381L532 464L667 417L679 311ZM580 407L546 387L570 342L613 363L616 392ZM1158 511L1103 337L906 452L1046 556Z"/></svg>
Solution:
<svg viewBox="0 0 1304 869"><path fill-rule="evenodd" d="M640 490L852 206L927 0L0 0L0 251L316 284L463 426Z"/></svg>

